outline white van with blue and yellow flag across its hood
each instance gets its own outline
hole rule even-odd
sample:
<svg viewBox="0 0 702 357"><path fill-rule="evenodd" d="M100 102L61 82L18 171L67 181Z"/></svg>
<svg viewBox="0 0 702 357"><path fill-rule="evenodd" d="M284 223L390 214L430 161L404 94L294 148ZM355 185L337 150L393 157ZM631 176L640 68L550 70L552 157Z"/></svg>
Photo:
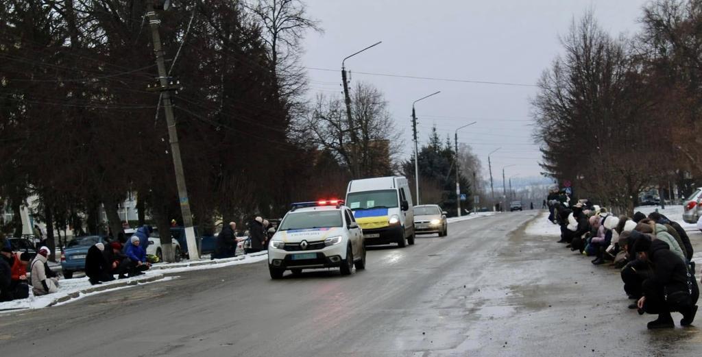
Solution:
<svg viewBox="0 0 702 357"><path fill-rule="evenodd" d="M414 244L412 196L405 177L352 180L345 204L363 229L366 245Z"/></svg>

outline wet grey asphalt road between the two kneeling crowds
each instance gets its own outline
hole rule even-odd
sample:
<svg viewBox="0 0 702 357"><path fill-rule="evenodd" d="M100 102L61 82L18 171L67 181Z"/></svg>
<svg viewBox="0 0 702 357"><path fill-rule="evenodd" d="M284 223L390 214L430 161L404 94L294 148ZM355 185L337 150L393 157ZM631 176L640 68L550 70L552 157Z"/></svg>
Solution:
<svg viewBox="0 0 702 357"><path fill-rule="evenodd" d="M536 212L449 225L369 250L351 276L272 281L265 262L0 315L2 356L700 356L699 328L646 329L618 271L555 238ZM698 316L701 317L702 316ZM698 324L701 324L698 319ZM701 324L702 325L702 324Z"/></svg>

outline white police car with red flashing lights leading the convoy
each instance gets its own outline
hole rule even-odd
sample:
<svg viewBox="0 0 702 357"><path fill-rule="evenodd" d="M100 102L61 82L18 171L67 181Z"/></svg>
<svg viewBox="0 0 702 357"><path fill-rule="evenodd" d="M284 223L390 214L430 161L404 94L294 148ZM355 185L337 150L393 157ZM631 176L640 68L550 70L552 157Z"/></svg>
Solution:
<svg viewBox="0 0 702 357"><path fill-rule="evenodd" d="M339 267L342 275L366 267L366 248L353 213L340 200L293 203L268 245L273 279L286 270Z"/></svg>

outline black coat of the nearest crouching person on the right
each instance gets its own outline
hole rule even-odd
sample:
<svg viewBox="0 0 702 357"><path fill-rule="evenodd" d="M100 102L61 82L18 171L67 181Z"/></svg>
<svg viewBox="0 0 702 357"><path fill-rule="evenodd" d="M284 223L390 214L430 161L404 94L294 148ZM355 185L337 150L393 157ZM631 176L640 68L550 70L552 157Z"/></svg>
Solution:
<svg viewBox="0 0 702 357"><path fill-rule="evenodd" d="M648 255L654 266L654 275L649 278L651 283L665 287L668 294L688 290L687 264L680 255L670 250L667 243L661 239L654 240Z"/></svg>

